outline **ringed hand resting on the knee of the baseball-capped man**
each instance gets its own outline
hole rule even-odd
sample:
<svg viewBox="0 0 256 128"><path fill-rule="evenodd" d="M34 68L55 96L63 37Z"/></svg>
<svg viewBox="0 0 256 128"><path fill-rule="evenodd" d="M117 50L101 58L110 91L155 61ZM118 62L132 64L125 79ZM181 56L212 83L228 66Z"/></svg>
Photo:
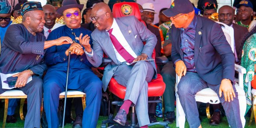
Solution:
<svg viewBox="0 0 256 128"><path fill-rule="evenodd" d="M228 102L230 102L230 99L233 101L233 97L235 97L235 92L230 80L223 79L221 81L219 90L220 97L222 96L222 92L224 94L225 101L228 100Z"/></svg>

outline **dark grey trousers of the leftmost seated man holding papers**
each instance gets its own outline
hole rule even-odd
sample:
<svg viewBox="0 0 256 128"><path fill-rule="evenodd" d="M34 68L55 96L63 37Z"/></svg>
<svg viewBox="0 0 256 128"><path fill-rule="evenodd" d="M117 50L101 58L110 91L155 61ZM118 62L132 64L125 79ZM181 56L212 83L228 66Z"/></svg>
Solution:
<svg viewBox="0 0 256 128"><path fill-rule="evenodd" d="M15 88L21 90L27 95L28 113L25 117L24 128L40 128L40 108L43 95L43 80L39 77L32 77L32 80L24 87ZM0 81L0 94L7 91L2 89L2 82Z"/></svg>

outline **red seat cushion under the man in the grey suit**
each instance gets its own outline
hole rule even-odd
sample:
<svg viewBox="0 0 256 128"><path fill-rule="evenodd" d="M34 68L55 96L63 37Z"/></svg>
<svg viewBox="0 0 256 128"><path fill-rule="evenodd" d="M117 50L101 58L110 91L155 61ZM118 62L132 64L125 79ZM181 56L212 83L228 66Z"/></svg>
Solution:
<svg viewBox="0 0 256 128"><path fill-rule="evenodd" d="M163 95L165 90L165 83L163 82L163 77L157 74L157 78L149 82L148 96L157 97ZM121 99L125 99L126 87L119 85L117 81L112 78L109 82L109 91Z"/></svg>

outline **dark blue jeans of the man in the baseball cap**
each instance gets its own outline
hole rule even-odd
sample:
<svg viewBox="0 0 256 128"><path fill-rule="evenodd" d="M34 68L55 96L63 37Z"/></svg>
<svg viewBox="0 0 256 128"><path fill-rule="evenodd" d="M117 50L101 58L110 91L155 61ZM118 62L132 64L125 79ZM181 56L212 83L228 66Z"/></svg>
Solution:
<svg viewBox="0 0 256 128"><path fill-rule="evenodd" d="M220 102L225 110L228 123L231 128L242 128L242 122L240 118L239 100L238 93L233 85L235 92L235 98L233 101L226 102L224 94L219 95L220 85L211 85L202 80L202 78L197 73L187 72L185 76L182 76L180 82L178 83L178 95L180 99L180 104L185 112L187 121L189 122L190 128L198 128L200 126L199 113L197 110L197 104L195 101L195 94L204 88L211 88L217 93Z"/></svg>

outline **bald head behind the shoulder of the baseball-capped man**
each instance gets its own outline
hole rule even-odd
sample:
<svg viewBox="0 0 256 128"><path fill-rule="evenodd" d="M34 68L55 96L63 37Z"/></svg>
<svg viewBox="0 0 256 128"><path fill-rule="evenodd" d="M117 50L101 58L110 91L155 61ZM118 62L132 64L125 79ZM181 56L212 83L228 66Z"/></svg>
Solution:
<svg viewBox="0 0 256 128"><path fill-rule="evenodd" d="M234 20L234 9L231 6L224 5L218 11L218 19L220 22L230 26Z"/></svg>

